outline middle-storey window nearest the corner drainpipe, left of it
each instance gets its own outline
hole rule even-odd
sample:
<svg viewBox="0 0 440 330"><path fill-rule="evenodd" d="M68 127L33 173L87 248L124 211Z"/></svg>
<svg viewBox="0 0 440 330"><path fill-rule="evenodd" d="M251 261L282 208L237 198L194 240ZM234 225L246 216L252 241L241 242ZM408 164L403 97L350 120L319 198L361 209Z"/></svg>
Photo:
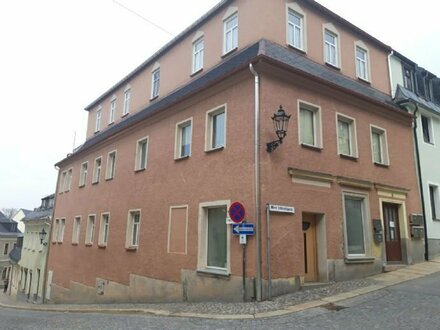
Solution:
<svg viewBox="0 0 440 330"><path fill-rule="evenodd" d="M205 151L226 146L226 105L206 112Z"/></svg>

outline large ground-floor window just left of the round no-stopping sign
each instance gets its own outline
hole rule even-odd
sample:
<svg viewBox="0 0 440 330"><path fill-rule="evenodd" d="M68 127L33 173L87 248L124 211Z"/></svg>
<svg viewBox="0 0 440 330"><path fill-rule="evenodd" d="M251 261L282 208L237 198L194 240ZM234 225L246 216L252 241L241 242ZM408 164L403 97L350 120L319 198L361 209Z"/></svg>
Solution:
<svg viewBox="0 0 440 330"><path fill-rule="evenodd" d="M200 271L230 274L230 230L226 224L230 201L199 204Z"/></svg>

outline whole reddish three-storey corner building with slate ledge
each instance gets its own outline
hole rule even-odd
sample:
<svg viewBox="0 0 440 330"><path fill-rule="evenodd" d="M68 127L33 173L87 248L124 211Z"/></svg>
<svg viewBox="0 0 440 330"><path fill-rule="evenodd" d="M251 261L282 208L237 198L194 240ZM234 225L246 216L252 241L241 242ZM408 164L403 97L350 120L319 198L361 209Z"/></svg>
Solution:
<svg viewBox="0 0 440 330"><path fill-rule="evenodd" d="M57 164L49 300L262 300L422 260L390 52L314 1L222 1L86 108Z"/></svg>

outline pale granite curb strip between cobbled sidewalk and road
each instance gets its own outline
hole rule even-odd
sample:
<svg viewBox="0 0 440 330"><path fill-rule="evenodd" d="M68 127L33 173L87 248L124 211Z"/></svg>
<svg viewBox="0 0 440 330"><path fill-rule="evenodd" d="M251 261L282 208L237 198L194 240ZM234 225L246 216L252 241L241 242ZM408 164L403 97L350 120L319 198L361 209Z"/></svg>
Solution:
<svg viewBox="0 0 440 330"><path fill-rule="evenodd" d="M372 293L384 288L400 284L402 282L414 280L424 276L431 275L440 271L440 258L420 264L409 265L391 272L381 273L368 277L373 280L372 284L362 288L357 288L347 292L337 293L328 297L310 300L302 303L294 303L282 306L277 310L259 311L255 313L240 314L212 314L200 311L198 313L185 311L172 311L160 308L141 308L141 307L116 307L112 305L33 305L27 303L19 303L11 298L0 296L0 307L12 308L28 311L44 311L59 313L111 313L111 314L145 314L165 317L185 317L185 318L205 318L215 320L238 320L238 319L261 319L283 316L287 314L297 313L312 308L323 307L328 304L334 304L343 300L355 298L361 295ZM5 302L5 300L8 300ZM270 303L270 302L269 302ZM203 308L201 308L203 309Z"/></svg>

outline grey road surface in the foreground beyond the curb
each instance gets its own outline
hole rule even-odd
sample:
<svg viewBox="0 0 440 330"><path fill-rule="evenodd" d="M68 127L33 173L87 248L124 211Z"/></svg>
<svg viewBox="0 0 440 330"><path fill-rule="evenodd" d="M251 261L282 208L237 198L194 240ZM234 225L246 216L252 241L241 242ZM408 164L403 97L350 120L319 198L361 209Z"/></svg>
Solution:
<svg viewBox="0 0 440 330"><path fill-rule="evenodd" d="M0 329L440 329L440 273L327 308L257 320L30 312L0 308Z"/></svg>

